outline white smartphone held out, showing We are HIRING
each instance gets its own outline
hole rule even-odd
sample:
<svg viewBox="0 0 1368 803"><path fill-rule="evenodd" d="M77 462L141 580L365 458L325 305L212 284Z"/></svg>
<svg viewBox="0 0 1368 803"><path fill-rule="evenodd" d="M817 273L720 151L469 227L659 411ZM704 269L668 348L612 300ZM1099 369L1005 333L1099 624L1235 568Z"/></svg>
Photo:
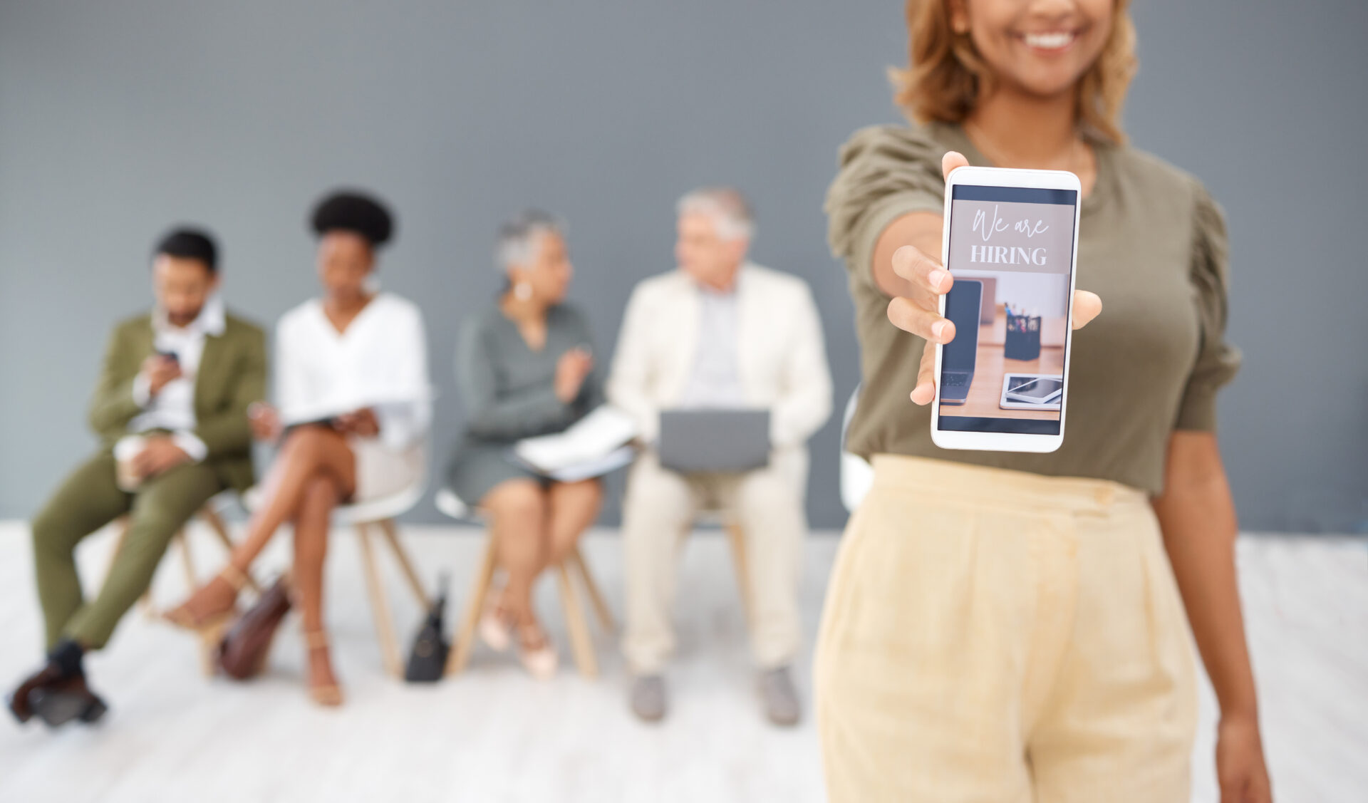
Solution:
<svg viewBox="0 0 1368 803"><path fill-rule="evenodd" d="M1081 194L1078 176L1056 170L960 167L945 179L941 264L955 285L941 297L940 312L963 306L956 293L977 293L982 317L970 323L960 316L955 341L936 346L932 440L937 446L1055 451L1064 442ZM984 294L989 279L993 298ZM992 323L982 323L989 319L989 304ZM1008 317L1038 320L1008 327ZM977 335L973 384L967 393L949 390L943 398L944 390L963 379L963 360L947 354L956 354L955 343L966 328L977 330L971 335ZM1042 338L1047 331L1063 335ZM1010 373L1049 376L1049 383L1021 389L1031 397L1048 390L1048 401L1023 397L1001 404ZM979 383L982 393L975 393Z"/></svg>

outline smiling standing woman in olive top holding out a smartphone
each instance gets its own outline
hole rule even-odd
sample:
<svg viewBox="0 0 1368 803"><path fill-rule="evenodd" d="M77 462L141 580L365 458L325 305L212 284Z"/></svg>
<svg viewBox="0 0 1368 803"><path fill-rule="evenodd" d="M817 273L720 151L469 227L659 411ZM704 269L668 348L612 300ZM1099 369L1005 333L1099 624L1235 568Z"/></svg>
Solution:
<svg viewBox="0 0 1368 803"><path fill-rule="evenodd" d="M1196 636L1222 800L1270 799L1215 395L1226 231L1200 182L1124 144L1126 0L908 0L911 126L858 131L828 196L874 486L817 654L832 800L1186 800ZM1082 183L1068 436L1051 454L930 440L945 176ZM911 394L908 404L907 394ZM1186 610L1185 610L1186 609ZM1190 627L1190 629L1189 629Z"/></svg>

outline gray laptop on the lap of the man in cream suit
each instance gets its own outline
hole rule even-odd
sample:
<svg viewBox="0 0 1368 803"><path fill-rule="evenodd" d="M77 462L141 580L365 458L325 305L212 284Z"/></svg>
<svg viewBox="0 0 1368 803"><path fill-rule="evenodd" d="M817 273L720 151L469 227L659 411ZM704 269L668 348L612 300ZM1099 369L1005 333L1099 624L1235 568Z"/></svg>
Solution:
<svg viewBox="0 0 1368 803"><path fill-rule="evenodd" d="M681 473L769 465L769 410L662 410L661 465Z"/></svg>

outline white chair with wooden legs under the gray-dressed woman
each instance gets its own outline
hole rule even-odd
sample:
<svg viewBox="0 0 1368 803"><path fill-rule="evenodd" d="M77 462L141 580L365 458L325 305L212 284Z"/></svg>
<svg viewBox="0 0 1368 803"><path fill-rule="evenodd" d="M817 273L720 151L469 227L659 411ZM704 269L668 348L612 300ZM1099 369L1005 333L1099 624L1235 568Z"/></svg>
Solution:
<svg viewBox="0 0 1368 803"><path fill-rule="evenodd" d="M436 506L438 510L453 518L471 521L483 520L483 516L480 516L479 512L472 516L465 503L450 491L443 490L438 492ZM480 613L484 610L484 601L490 595L490 584L494 581L494 569L497 565L498 543L494 534L490 532L484 539L484 557L480 560L480 568L475 575L471 596L466 599L465 610L461 614L461 625L456 632L456 644L453 646L451 655L446 661L447 674L460 673L471 661L471 651L475 647L476 637L475 629L479 625ZM607 602L603 599L603 594L599 591L598 583L594 581L594 575L590 573L588 564L584 561L584 555L580 553L579 546L570 551L568 558L557 564L554 570L561 595L561 610L565 616L565 629L570 633L570 653L575 657L575 666L584 677L598 677L598 659L594 654L594 637L590 633L590 625L584 617L584 609L580 605L579 594L575 590L575 577L577 577L580 584L584 585L584 592L588 596L590 605L594 607L594 613L603 631L609 633L616 632L617 622L613 620L613 613L609 610Z"/></svg>

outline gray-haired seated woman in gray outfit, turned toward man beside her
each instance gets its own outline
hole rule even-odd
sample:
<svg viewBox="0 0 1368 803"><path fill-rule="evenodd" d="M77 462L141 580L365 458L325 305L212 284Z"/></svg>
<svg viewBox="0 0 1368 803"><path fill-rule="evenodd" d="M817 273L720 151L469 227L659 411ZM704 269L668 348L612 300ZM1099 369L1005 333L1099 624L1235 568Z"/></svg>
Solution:
<svg viewBox="0 0 1368 803"><path fill-rule="evenodd" d="M514 218L499 233L498 261L508 287L465 321L457 343L466 424L447 480L490 517L506 577L490 595L480 635L503 651L516 633L523 665L546 679L557 659L532 610L532 585L594 523L603 490L598 480L550 482L517 464L510 447L565 430L603 402L603 389L588 326L562 304L575 269L561 223L544 212Z"/></svg>

